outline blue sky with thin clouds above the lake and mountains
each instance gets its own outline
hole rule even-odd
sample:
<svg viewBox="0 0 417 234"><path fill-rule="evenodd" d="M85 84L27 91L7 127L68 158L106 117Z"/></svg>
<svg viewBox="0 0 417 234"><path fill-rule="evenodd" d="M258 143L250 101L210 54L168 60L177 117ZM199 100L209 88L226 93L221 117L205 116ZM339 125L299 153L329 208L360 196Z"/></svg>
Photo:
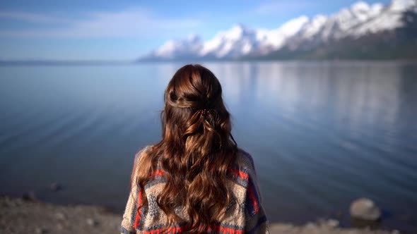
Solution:
<svg viewBox="0 0 417 234"><path fill-rule="evenodd" d="M131 60L169 39L211 39L237 23L277 28L357 1L0 1L0 59ZM389 0L366 0L368 4Z"/></svg>

